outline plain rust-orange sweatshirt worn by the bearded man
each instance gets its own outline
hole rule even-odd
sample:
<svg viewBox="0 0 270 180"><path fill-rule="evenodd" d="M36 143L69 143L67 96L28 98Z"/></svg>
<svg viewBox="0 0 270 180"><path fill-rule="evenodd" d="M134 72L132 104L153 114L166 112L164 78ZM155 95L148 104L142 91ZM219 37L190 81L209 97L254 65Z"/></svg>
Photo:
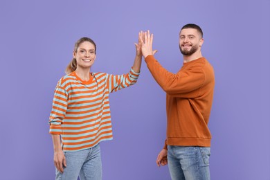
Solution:
<svg viewBox="0 0 270 180"><path fill-rule="evenodd" d="M201 57L183 63L178 73L164 69L154 56L145 58L156 82L167 93L167 145L210 147L208 129L215 86L213 67Z"/></svg>

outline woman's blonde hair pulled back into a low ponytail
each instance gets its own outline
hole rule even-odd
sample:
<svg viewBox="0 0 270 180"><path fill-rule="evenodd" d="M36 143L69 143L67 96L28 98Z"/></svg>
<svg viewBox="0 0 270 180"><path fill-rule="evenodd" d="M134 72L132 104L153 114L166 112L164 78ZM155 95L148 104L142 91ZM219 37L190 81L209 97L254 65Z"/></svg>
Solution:
<svg viewBox="0 0 270 180"><path fill-rule="evenodd" d="M74 50L73 52L77 53L78 47L80 46L80 44L82 44L83 42L90 42L91 44L93 44L93 46L95 46L95 54L96 54L96 43L93 42L92 39L90 39L89 37L82 37L80 38L74 46ZM69 62L69 65L66 66L66 70L64 71L66 74L69 74L73 71L75 71L77 69L77 61L75 58L73 58L71 60L71 62Z"/></svg>

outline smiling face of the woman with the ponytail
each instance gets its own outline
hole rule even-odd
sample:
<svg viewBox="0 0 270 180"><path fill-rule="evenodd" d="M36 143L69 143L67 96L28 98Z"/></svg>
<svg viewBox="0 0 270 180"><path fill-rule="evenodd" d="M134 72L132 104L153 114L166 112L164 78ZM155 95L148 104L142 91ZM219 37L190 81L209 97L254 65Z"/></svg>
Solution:
<svg viewBox="0 0 270 180"><path fill-rule="evenodd" d="M96 59L95 46L91 42L82 42L77 52L73 52L73 58L77 60L77 67L90 68Z"/></svg>

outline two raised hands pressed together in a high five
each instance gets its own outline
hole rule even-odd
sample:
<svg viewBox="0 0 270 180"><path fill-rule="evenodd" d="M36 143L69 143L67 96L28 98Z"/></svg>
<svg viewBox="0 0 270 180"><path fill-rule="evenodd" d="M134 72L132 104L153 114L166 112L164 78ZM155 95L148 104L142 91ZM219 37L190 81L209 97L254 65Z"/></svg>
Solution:
<svg viewBox="0 0 270 180"><path fill-rule="evenodd" d="M150 34L150 30L147 30L147 32L141 31L140 33L139 44L141 44L141 53L143 54L143 57L147 57L148 55L154 55L157 52L157 50L153 51L152 48L154 35Z"/></svg>

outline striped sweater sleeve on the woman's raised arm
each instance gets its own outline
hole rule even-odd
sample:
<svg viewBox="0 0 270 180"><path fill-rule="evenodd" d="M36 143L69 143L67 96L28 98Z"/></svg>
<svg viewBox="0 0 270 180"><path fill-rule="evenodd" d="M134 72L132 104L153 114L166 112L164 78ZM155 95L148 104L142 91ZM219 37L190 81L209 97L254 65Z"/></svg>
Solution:
<svg viewBox="0 0 270 180"><path fill-rule="evenodd" d="M138 80L139 73L130 69L129 73L123 75L108 75L107 86L109 92L115 92L125 87L135 84Z"/></svg>

